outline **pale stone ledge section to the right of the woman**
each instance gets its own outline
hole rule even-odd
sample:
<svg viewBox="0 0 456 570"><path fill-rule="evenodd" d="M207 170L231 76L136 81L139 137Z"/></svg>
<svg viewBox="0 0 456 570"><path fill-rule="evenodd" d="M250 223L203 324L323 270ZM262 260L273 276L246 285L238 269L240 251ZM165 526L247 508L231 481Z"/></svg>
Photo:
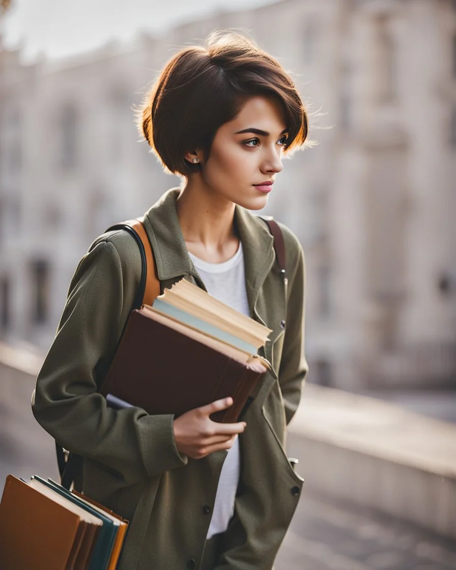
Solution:
<svg viewBox="0 0 456 570"><path fill-rule="evenodd" d="M309 489L456 538L456 426L308 384L288 429Z"/></svg>

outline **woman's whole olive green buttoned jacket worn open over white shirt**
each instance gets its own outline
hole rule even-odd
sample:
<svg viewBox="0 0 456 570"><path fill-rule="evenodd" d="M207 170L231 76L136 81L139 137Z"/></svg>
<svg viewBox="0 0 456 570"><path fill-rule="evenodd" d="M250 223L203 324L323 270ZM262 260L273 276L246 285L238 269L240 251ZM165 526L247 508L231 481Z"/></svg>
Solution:
<svg viewBox="0 0 456 570"><path fill-rule="evenodd" d="M177 188L145 215L161 287L184 276L204 287L186 250ZM239 436L241 479L217 570L270 570L298 503L303 479L284 451L286 424L307 372L303 356L304 260L281 225L288 282L266 224L237 206L251 317L272 329L268 372ZM203 459L178 453L173 416L107 408L97 392L115 353L141 275L139 249L125 231L101 235L71 281L58 332L36 381L36 420L65 449L83 456L83 491L130 521L120 570L200 568L226 451ZM178 358L179 355L176 355ZM154 373L153 368L150 374ZM128 378L125 378L128 382ZM203 508L205 507L205 508Z"/></svg>

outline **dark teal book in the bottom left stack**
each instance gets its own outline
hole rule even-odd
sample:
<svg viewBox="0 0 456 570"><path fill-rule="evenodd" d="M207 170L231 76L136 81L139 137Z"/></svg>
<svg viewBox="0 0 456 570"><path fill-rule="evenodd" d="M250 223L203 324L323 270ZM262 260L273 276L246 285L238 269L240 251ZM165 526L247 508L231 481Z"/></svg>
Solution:
<svg viewBox="0 0 456 570"><path fill-rule="evenodd" d="M97 511L95 508L89 506L84 501L80 500L76 495L72 494L66 488L62 487L52 479L44 481L38 475L34 475L32 479L36 479L46 487L49 487L60 495L64 496L66 499L71 500L72 503L77 504L82 507L85 511L88 511L92 515L97 516L103 522L103 526L100 527L100 532L98 533L96 543L93 547L92 556L89 563L89 570L107 570L109 565L109 559L111 558L112 547L116 539L117 531L119 526L114 524L111 519Z"/></svg>

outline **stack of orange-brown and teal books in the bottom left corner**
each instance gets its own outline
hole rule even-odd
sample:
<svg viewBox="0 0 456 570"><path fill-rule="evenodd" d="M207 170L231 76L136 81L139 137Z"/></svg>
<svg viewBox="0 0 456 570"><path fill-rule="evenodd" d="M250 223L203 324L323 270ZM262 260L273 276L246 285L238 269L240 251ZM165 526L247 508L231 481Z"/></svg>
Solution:
<svg viewBox="0 0 456 570"><path fill-rule="evenodd" d="M115 570L128 522L51 479L7 475L0 503L2 570Z"/></svg>

